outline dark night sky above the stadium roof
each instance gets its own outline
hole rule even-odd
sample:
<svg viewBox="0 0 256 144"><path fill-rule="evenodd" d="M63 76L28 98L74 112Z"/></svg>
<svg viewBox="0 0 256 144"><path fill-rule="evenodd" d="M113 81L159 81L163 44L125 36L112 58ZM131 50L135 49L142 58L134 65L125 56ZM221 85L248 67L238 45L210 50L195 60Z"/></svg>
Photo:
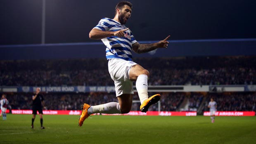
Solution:
<svg viewBox="0 0 256 144"><path fill-rule="evenodd" d="M90 30L113 19L119 0L46 0L45 43L95 42ZM126 23L138 41L256 38L255 0L130 0ZM0 45L40 44L42 0L0 1ZM100 41L99 41L100 42Z"/></svg>

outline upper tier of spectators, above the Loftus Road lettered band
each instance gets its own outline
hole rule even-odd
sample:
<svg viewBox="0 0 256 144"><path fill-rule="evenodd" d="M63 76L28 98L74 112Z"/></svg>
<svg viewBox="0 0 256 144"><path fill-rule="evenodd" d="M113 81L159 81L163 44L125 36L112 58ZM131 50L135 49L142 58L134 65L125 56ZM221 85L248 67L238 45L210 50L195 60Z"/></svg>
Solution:
<svg viewBox="0 0 256 144"><path fill-rule="evenodd" d="M256 84L256 57L134 58L149 85ZM0 86L113 86L104 58L2 60Z"/></svg>

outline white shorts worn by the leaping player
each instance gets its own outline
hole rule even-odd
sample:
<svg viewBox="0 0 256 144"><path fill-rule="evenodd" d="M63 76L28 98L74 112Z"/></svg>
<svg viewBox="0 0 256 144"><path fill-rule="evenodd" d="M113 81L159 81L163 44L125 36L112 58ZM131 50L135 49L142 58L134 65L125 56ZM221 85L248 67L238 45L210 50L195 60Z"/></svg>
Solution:
<svg viewBox="0 0 256 144"><path fill-rule="evenodd" d="M115 83L116 97L134 93L133 82L129 79L129 72L133 65L137 63L121 58L109 59L109 74Z"/></svg>

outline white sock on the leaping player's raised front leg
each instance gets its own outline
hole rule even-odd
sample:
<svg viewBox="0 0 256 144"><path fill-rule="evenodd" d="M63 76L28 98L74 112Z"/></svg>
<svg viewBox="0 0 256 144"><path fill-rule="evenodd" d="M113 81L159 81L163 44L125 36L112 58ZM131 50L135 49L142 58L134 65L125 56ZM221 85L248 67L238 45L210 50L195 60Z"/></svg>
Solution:
<svg viewBox="0 0 256 144"><path fill-rule="evenodd" d="M136 81L136 89L137 89L141 104L149 98L149 95L147 93L147 78L148 77L146 74L141 74L138 76Z"/></svg>

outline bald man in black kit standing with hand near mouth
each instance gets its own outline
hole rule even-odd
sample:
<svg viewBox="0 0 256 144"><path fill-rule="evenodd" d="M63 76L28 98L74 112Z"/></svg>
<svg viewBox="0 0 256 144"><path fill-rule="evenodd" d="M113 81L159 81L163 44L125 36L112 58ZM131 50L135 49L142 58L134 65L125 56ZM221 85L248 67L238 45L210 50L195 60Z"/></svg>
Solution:
<svg viewBox="0 0 256 144"><path fill-rule="evenodd" d="M32 118L31 128L34 128L34 121L38 111L40 116L41 129L45 129L45 127L43 127L43 108L42 108L42 106L44 107L45 102L44 102L43 95L40 94L40 88L36 88L36 94L33 95L32 99L33 99L33 106L32 106L33 118Z"/></svg>

